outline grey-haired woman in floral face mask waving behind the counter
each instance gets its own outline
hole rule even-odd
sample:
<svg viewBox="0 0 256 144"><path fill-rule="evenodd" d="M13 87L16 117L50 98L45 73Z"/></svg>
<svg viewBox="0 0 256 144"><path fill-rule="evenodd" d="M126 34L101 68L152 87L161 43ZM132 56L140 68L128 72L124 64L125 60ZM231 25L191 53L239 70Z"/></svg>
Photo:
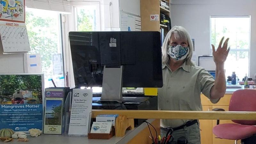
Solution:
<svg viewBox="0 0 256 144"><path fill-rule="evenodd" d="M202 110L200 93L202 92L212 103L217 103L226 92L224 62L229 48L228 38L222 46L221 39L217 51L212 45L213 60L216 65L215 80L204 68L196 66L192 61L193 44L188 31L181 27L173 27L166 35L162 47L164 86L158 90L159 110ZM168 127L174 132L173 143L185 136L189 143L200 144L198 120L161 119L161 135L165 136Z"/></svg>

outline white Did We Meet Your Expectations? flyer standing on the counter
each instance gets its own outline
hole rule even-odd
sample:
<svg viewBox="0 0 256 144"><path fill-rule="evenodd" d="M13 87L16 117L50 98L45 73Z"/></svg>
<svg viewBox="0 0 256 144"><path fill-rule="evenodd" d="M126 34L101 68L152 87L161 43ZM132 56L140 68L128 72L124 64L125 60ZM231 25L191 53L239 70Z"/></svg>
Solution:
<svg viewBox="0 0 256 144"><path fill-rule="evenodd" d="M69 135L88 135L92 89L73 89Z"/></svg>

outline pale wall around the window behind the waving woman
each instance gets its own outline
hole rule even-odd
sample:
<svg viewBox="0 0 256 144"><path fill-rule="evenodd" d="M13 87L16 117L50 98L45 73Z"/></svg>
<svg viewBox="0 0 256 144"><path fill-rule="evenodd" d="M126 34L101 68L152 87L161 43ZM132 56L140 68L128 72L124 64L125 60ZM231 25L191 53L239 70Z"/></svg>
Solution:
<svg viewBox="0 0 256 144"><path fill-rule="evenodd" d="M172 26L185 27L195 38L197 56L210 55L210 15L251 15L250 77L256 73L255 0L172 0Z"/></svg>

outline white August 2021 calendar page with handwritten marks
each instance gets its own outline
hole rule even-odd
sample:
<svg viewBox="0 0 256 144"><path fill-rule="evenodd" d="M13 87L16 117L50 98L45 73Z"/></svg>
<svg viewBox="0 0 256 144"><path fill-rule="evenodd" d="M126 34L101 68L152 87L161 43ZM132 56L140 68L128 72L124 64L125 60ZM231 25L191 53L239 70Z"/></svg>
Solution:
<svg viewBox="0 0 256 144"><path fill-rule="evenodd" d="M1 21L0 36L4 53L30 51L28 31L25 23Z"/></svg>

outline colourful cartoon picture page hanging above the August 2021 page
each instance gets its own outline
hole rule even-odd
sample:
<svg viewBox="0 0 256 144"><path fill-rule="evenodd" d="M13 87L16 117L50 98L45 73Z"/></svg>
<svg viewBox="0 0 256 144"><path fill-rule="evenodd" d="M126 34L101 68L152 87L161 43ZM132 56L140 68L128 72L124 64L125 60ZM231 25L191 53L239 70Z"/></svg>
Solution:
<svg viewBox="0 0 256 144"><path fill-rule="evenodd" d="M0 0L0 20L25 22L25 0Z"/></svg>

